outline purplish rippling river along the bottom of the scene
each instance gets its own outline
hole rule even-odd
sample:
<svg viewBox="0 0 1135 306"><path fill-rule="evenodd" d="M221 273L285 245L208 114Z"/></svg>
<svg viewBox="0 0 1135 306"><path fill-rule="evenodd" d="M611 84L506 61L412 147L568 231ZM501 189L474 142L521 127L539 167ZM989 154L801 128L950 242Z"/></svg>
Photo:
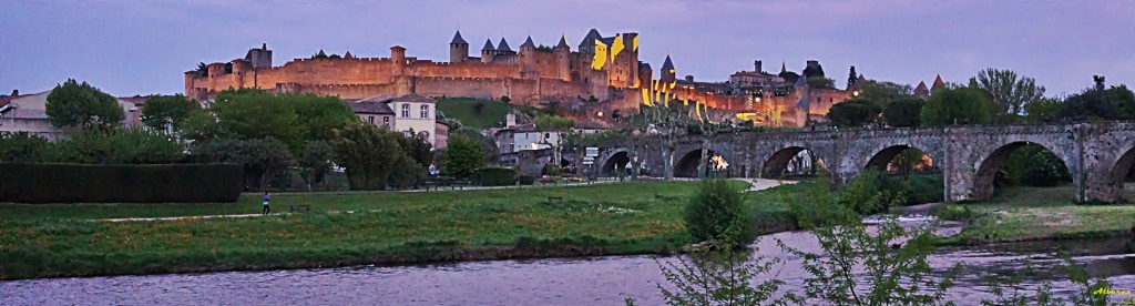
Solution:
<svg viewBox="0 0 1135 306"><path fill-rule="evenodd" d="M774 267L776 277L794 290L807 275L799 258L781 252L775 239L813 252L817 243L802 231L755 243L759 254L784 261ZM1061 248L1093 274L1110 275L1112 288L1135 288L1135 244L1127 238L948 247L932 255L931 263L938 270L966 264L948 298L975 305L991 296L980 275L1019 271L1026 257L1042 271L1052 270L1060 261L1046 254ZM653 256L607 256L19 280L0 282L0 305L623 305L627 297L661 305L657 284L664 280ZM1039 283L1029 279L1026 290ZM1058 296L1079 291L1062 278L1052 288ZM1113 296L1112 301L1129 298Z"/></svg>

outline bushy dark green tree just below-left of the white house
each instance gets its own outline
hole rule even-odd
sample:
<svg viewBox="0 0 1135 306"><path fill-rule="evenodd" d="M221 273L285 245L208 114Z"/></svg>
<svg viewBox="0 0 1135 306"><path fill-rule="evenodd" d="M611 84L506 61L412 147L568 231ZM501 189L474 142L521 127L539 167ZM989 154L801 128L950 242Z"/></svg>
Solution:
<svg viewBox="0 0 1135 306"><path fill-rule="evenodd" d="M352 190L386 189L394 163L403 155L398 133L371 125L351 125L338 130L334 143L336 163L346 168Z"/></svg>

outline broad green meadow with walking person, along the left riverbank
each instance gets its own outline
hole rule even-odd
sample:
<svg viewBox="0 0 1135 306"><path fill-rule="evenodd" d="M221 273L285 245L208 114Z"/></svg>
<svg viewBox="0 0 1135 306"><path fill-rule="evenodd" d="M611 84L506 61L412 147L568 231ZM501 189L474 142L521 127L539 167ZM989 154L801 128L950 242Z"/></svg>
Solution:
<svg viewBox="0 0 1135 306"><path fill-rule="evenodd" d="M134 222L96 219L258 213L259 197L232 204L7 204L0 205L0 279L661 254L688 243L681 215L696 188L686 181L277 195L276 210L303 203L312 211ZM763 203L755 213L781 206L768 204L775 198L765 193L750 193L760 196L749 201ZM549 196L564 201L549 203Z"/></svg>

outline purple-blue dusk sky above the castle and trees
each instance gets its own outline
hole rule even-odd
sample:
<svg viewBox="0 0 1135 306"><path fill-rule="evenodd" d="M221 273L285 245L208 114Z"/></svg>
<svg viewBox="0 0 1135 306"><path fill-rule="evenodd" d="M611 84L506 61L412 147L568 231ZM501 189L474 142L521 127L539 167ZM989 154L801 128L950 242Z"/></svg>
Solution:
<svg viewBox="0 0 1135 306"><path fill-rule="evenodd" d="M1135 85L1135 1L0 1L0 93L67 78L118 95L184 92L197 62L243 58L267 43L274 65L351 51L448 60L461 29L470 50L531 35L574 51L590 28L639 33L639 59L680 76L725 80L762 59L776 73L819 60L842 86L867 78L964 83L986 67L1036 78L1048 95ZM473 51L478 52L478 51ZM479 54L471 54L479 56Z"/></svg>

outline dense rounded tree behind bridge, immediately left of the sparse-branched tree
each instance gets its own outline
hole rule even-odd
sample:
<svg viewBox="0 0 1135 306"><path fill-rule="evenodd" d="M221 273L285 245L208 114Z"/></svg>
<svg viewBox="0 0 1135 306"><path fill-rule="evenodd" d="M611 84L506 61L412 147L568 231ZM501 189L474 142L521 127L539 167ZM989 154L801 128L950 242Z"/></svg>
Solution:
<svg viewBox="0 0 1135 306"><path fill-rule="evenodd" d="M923 105L922 125L984 125L991 121L993 112L992 102L980 88L943 88Z"/></svg>

